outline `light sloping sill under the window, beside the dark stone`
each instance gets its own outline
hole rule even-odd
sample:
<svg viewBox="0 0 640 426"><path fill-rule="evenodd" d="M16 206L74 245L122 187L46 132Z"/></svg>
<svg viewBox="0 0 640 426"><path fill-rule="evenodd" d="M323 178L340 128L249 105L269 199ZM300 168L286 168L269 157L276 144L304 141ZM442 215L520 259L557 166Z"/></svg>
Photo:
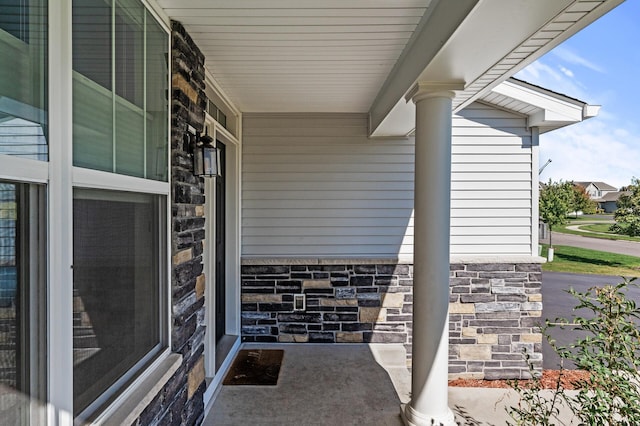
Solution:
<svg viewBox="0 0 640 426"><path fill-rule="evenodd" d="M182 355L170 353L158 359L138 383L134 383L98 419L97 424L130 425L180 368Z"/></svg>

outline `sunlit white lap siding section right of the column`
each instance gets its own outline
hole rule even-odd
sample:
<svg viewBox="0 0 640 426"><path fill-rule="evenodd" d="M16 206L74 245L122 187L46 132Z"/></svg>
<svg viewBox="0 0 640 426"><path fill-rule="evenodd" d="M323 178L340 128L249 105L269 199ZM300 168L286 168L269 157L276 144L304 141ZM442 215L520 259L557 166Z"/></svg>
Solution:
<svg viewBox="0 0 640 426"><path fill-rule="evenodd" d="M532 254L534 148L526 124L480 103L453 117L452 254Z"/></svg>

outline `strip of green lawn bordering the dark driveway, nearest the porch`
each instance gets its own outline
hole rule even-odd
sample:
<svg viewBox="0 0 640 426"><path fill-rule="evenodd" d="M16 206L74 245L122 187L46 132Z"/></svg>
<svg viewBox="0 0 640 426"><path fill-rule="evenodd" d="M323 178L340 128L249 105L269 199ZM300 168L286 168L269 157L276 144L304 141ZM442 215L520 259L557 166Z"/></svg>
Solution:
<svg viewBox="0 0 640 426"><path fill-rule="evenodd" d="M569 246L554 247L554 260L543 264L543 271L640 277L640 257ZM543 245L543 257L547 257L547 248Z"/></svg>

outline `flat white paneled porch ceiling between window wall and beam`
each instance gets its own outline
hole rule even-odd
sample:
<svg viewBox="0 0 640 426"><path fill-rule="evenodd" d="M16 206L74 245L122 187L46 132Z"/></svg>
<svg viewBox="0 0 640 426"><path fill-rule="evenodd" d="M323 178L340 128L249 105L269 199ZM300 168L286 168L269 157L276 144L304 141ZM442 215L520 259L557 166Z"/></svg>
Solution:
<svg viewBox="0 0 640 426"><path fill-rule="evenodd" d="M367 112L431 0L158 0L243 112Z"/></svg>

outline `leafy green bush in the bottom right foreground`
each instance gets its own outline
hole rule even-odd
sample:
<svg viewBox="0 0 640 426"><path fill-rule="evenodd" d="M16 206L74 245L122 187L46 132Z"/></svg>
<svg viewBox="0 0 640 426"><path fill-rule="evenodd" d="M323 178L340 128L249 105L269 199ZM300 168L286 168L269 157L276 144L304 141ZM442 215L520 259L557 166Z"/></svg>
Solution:
<svg viewBox="0 0 640 426"><path fill-rule="evenodd" d="M572 395L565 392L560 375L552 397L546 399L539 396L539 378L534 378L530 388L516 384L520 403L507 410L516 425L554 424L562 404L573 411L580 424L640 425L640 330L636 322L640 310L627 295L630 286L635 286L633 280L593 287L584 293L569 290L578 301L574 311L587 310L593 316L547 320L544 334L549 339L549 328L569 324L585 332L584 338L566 347L550 343L562 360L588 371L589 378L576 383L580 390Z"/></svg>

